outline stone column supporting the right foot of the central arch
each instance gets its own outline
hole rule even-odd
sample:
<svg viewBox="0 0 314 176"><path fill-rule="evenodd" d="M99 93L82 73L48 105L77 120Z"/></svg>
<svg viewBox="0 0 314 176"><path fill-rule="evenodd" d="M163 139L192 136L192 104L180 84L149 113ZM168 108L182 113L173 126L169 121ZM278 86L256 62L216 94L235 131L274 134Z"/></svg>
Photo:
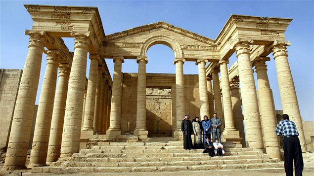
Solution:
<svg viewBox="0 0 314 176"><path fill-rule="evenodd" d="M175 130L175 139L179 140L182 138L181 122L185 115L184 109L184 74L183 64L184 58L175 58L174 64L176 64L176 122L177 129Z"/></svg>

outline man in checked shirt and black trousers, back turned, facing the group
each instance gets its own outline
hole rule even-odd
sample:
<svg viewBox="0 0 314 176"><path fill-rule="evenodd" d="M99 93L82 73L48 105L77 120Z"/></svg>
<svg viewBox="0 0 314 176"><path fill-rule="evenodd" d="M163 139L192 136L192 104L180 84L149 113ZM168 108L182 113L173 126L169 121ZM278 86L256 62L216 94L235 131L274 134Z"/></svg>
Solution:
<svg viewBox="0 0 314 176"><path fill-rule="evenodd" d="M295 175L302 176L303 157L296 124L289 120L289 115L283 114L276 128L277 136L283 136L284 170L287 176L293 176L293 160Z"/></svg>

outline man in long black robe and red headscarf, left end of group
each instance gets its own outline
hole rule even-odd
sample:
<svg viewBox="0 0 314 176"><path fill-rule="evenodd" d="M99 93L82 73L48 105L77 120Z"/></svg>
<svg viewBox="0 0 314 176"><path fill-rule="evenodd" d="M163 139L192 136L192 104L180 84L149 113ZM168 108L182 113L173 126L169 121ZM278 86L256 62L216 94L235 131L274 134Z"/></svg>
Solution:
<svg viewBox="0 0 314 176"><path fill-rule="evenodd" d="M192 128L192 122L189 120L189 118L190 118L190 115L186 114L181 123L181 131L183 134L183 148L188 149L188 150L192 149L193 147L192 138L191 138L193 128Z"/></svg>

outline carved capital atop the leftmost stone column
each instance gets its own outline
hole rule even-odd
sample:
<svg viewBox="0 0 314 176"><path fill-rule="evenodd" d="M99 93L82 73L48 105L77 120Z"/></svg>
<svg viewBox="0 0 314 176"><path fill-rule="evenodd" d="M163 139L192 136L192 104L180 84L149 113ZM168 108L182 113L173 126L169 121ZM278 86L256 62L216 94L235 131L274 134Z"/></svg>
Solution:
<svg viewBox="0 0 314 176"><path fill-rule="evenodd" d="M44 51L45 37L48 37L45 32L35 32L35 31L26 30L24 34L30 36L28 47L37 46L37 47L42 48Z"/></svg>

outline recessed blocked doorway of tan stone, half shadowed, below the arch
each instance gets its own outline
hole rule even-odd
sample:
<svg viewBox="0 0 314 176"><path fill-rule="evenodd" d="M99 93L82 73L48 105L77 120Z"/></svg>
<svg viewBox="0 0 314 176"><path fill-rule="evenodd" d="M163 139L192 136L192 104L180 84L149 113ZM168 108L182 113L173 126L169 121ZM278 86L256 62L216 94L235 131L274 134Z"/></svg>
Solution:
<svg viewBox="0 0 314 176"><path fill-rule="evenodd" d="M172 137L171 88L146 88L148 137Z"/></svg>

